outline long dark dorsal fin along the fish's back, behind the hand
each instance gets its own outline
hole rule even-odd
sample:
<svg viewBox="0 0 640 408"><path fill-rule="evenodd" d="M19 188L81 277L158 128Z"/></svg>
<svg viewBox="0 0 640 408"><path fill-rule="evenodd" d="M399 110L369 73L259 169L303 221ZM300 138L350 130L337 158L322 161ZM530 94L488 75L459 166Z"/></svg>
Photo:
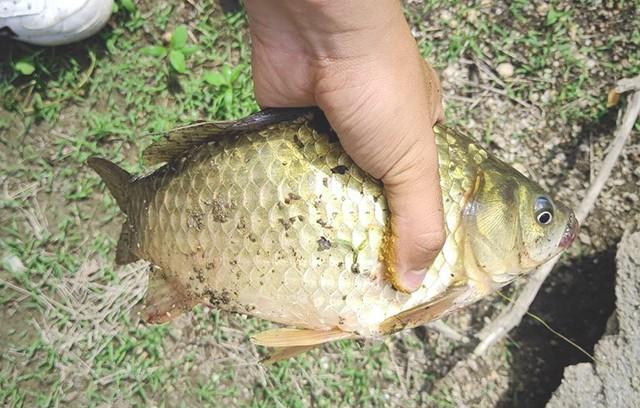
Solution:
<svg viewBox="0 0 640 408"><path fill-rule="evenodd" d="M317 108L270 108L236 121L199 122L172 129L142 153L147 164L159 164L181 157L191 149L224 136L261 130L276 123L309 118Z"/></svg>

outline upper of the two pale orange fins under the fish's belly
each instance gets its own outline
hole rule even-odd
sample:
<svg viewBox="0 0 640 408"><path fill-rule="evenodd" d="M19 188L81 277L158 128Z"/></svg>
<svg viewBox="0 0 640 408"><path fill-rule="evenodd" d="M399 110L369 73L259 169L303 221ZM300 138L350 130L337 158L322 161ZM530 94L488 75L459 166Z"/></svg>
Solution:
<svg viewBox="0 0 640 408"><path fill-rule="evenodd" d="M317 346L330 341L355 338L354 333L340 329L310 330L310 329L273 329L256 334L251 341L266 347L300 347Z"/></svg>

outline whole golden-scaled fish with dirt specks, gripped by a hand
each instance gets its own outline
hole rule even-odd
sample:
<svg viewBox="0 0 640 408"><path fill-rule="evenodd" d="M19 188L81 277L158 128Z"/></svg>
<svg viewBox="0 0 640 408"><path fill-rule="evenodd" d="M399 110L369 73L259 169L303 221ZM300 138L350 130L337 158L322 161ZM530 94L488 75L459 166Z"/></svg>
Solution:
<svg viewBox="0 0 640 408"><path fill-rule="evenodd" d="M317 108L265 109L168 131L134 176L88 160L126 215L116 263L151 264L142 317L199 304L282 327L251 340L267 362L447 316L566 249L567 206L460 129L434 127L446 239L412 293L394 285L384 186Z"/></svg>

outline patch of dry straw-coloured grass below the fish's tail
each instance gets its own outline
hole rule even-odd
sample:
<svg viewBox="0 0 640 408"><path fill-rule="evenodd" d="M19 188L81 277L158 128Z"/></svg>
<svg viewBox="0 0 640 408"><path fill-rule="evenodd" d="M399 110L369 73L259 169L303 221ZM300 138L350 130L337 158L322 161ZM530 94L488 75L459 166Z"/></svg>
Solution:
<svg viewBox="0 0 640 408"><path fill-rule="evenodd" d="M58 355L65 356L57 363L58 369L61 380L71 384L74 379L91 376L96 355L120 332L123 323L119 317L142 299L146 268L142 262L127 265L118 271L120 281L109 285L100 274L98 262L88 259L77 273L65 274L56 281L52 295L2 279L0 283L34 297L43 307L43 318L36 327L41 338Z"/></svg>

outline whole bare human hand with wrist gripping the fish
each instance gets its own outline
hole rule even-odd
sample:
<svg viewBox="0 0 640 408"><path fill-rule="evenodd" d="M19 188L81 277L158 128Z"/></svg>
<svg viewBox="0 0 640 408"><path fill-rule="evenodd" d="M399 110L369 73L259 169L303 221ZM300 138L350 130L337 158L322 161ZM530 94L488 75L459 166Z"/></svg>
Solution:
<svg viewBox="0 0 640 408"><path fill-rule="evenodd" d="M384 183L388 278L416 290L444 243L433 125L440 82L396 0L246 0L263 107L318 106L347 154Z"/></svg>

